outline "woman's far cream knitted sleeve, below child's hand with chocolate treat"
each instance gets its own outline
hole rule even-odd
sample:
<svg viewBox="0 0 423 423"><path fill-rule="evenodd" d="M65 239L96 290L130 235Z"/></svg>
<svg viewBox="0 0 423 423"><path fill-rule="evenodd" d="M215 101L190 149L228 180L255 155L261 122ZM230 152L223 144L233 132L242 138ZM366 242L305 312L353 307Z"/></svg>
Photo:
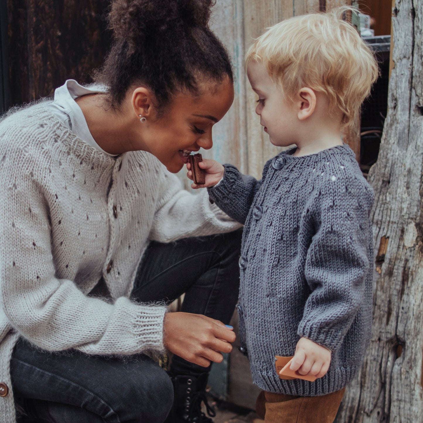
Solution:
<svg viewBox="0 0 423 423"><path fill-rule="evenodd" d="M241 226L210 203L206 190L192 194L182 189L179 179L164 168L159 187L160 198L149 234L151 240L171 242L189 236L231 232Z"/></svg>

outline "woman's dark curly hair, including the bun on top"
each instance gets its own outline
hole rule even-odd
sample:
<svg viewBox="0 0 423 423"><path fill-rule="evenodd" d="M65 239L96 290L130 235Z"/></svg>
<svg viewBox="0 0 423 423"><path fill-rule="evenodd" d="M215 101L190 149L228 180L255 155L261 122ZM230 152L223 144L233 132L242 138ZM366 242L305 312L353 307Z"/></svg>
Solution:
<svg viewBox="0 0 423 423"><path fill-rule="evenodd" d="M198 94L198 79L233 81L228 52L209 29L213 0L112 0L114 43L97 82L119 108L134 83L154 93L157 107L178 91Z"/></svg>

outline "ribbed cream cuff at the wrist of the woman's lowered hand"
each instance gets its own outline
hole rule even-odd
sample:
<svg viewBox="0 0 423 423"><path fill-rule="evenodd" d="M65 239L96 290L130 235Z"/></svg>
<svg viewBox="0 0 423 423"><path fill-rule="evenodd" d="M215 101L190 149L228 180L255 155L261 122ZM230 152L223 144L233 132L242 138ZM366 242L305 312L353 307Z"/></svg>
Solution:
<svg viewBox="0 0 423 423"><path fill-rule="evenodd" d="M134 322L134 334L143 349L164 351L163 319L167 308L145 306L137 314Z"/></svg>

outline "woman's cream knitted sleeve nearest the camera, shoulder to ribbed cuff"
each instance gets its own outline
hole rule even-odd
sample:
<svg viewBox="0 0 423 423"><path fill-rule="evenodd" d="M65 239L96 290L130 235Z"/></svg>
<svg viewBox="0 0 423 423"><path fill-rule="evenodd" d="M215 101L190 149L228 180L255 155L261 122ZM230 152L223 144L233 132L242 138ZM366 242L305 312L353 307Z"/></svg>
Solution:
<svg viewBox="0 0 423 423"><path fill-rule="evenodd" d="M37 162L15 147L0 160L0 307L11 326L49 350L134 354L163 349L165 307L87 297L56 276L49 209Z"/></svg>

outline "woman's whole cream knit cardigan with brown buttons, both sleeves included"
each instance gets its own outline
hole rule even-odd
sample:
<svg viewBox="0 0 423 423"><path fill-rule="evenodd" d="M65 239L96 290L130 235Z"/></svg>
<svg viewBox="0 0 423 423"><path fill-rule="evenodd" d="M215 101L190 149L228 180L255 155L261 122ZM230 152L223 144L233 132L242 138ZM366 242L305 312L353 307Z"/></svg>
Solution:
<svg viewBox="0 0 423 423"><path fill-rule="evenodd" d="M35 104L0 124L0 422L14 423L19 335L49 351L163 349L160 305L128 299L149 240L232 231L206 190L181 189L151 154L110 157ZM113 302L88 297L103 277ZM171 283L171 281L169 281Z"/></svg>

